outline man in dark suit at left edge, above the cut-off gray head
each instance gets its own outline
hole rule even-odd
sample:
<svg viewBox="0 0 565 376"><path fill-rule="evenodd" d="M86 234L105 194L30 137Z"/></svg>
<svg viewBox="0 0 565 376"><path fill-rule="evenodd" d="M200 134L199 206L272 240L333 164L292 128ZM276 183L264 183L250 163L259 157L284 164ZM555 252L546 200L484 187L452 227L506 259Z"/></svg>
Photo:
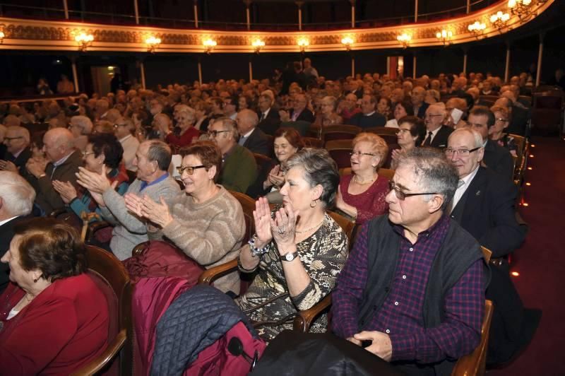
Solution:
<svg viewBox="0 0 565 376"><path fill-rule="evenodd" d="M24 127L10 127L4 136L6 160L0 160L0 170L20 172L31 157L30 131Z"/></svg>

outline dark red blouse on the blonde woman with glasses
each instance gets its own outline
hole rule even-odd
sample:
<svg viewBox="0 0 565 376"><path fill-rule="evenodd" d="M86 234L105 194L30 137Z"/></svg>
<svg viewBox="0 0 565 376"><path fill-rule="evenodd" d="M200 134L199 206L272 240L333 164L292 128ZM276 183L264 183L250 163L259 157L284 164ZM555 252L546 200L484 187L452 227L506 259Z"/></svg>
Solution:
<svg viewBox="0 0 565 376"><path fill-rule="evenodd" d="M367 191L361 194L350 194L347 191L353 176L345 175L341 177L340 190L343 201L357 208L356 223L362 225L371 218L388 213L388 204L384 201L386 194L388 194L388 179L379 175Z"/></svg>

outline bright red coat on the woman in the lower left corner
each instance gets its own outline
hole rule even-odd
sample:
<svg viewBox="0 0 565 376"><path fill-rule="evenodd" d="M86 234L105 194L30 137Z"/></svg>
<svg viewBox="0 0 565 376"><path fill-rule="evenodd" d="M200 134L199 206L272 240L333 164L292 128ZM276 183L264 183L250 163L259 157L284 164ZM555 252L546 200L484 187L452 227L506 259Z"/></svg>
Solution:
<svg viewBox="0 0 565 376"><path fill-rule="evenodd" d="M59 279L6 320L24 291L0 296L0 375L69 375L105 350L108 303L87 274Z"/></svg>

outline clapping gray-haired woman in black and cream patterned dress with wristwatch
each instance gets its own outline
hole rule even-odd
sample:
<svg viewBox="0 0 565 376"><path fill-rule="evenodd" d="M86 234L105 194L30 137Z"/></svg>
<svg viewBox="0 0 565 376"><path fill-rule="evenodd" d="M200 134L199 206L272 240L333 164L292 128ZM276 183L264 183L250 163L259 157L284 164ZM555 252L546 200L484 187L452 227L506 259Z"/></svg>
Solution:
<svg viewBox="0 0 565 376"><path fill-rule="evenodd" d="M239 270L258 272L236 304L258 327L263 339L292 329L297 310L308 310L331 292L347 259L347 236L326 213L333 205L339 174L328 152L304 148L286 161L284 207L269 212L256 202L256 234L239 252ZM266 322L266 323L265 323ZM327 317L311 331L326 331Z"/></svg>

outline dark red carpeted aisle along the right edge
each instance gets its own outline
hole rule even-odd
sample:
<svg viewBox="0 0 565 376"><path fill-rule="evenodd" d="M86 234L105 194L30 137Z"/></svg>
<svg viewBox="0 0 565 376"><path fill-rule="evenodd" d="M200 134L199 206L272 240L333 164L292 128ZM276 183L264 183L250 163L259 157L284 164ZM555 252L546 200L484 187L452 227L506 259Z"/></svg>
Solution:
<svg viewBox="0 0 565 376"><path fill-rule="evenodd" d="M516 251L513 278L525 307L543 311L540 326L525 352L489 375L565 375L565 141L533 139L525 202L520 212L530 226Z"/></svg>

